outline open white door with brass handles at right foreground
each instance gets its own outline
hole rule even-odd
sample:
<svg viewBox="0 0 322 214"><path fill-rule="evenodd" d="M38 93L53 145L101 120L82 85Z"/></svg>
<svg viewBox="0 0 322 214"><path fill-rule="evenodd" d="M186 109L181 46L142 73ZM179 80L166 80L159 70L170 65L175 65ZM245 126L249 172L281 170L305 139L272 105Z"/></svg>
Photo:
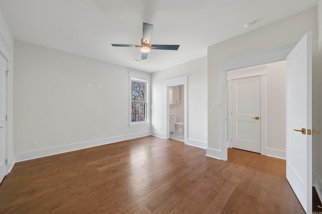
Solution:
<svg viewBox="0 0 322 214"><path fill-rule="evenodd" d="M286 58L286 178L306 213L312 212L312 36ZM296 131L301 130L302 131ZM304 130L305 129L305 130Z"/></svg>

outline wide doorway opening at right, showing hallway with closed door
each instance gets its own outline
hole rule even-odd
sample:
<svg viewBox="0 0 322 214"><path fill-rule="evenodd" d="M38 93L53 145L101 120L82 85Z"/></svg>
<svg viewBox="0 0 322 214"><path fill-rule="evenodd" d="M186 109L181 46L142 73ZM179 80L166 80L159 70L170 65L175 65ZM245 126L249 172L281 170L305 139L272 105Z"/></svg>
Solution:
<svg viewBox="0 0 322 214"><path fill-rule="evenodd" d="M227 112L228 147L285 158L286 62L228 71Z"/></svg>

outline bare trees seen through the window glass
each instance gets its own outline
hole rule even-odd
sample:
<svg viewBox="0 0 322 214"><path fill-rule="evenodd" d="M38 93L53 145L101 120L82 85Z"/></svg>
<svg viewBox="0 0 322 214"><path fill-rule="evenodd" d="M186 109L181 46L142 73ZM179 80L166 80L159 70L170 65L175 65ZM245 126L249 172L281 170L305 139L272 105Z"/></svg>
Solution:
<svg viewBox="0 0 322 214"><path fill-rule="evenodd" d="M146 121L146 82L131 81L132 122Z"/></svg>

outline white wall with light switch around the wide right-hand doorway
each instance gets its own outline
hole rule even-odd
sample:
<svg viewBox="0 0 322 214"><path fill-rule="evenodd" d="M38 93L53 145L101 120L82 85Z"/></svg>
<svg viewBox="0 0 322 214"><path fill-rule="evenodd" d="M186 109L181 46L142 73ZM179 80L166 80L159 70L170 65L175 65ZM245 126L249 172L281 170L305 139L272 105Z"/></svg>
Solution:
<svg viewBox="0 0 322 214"><path fill-rule="evenodd" d="M283 46L299 41L303 35L312 31L313 35L313 79L317 68L317 24L316 8L301 14L289 17L279 22L253 30L247 34L226 40L208 48L208 148L221 151L221 124L220 109L213 109L212 103L221 101L221 72L220 62L238 56L257 51ZM315 80L313 80L315 81ZM317 87L313 82L313 87ZM313 92L314 92L313 88ZM316 100L317 94L313 94L313 124L317 123ZM225 149L225 148L223 148ZM208 153L208 150L207 150ZM220 158L220 157L217 157Z"/></svg>

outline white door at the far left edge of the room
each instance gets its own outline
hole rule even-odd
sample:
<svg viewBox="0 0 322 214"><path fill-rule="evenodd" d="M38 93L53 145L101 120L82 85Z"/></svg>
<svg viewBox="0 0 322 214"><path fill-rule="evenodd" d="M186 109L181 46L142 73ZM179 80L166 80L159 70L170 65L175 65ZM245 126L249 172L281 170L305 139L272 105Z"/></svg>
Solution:
<svg viewBox="0 0 322 214"><path fill-rule="evenodd" d="M7 158L7 61L0 55L0 182L6 175Z"/></svg>

